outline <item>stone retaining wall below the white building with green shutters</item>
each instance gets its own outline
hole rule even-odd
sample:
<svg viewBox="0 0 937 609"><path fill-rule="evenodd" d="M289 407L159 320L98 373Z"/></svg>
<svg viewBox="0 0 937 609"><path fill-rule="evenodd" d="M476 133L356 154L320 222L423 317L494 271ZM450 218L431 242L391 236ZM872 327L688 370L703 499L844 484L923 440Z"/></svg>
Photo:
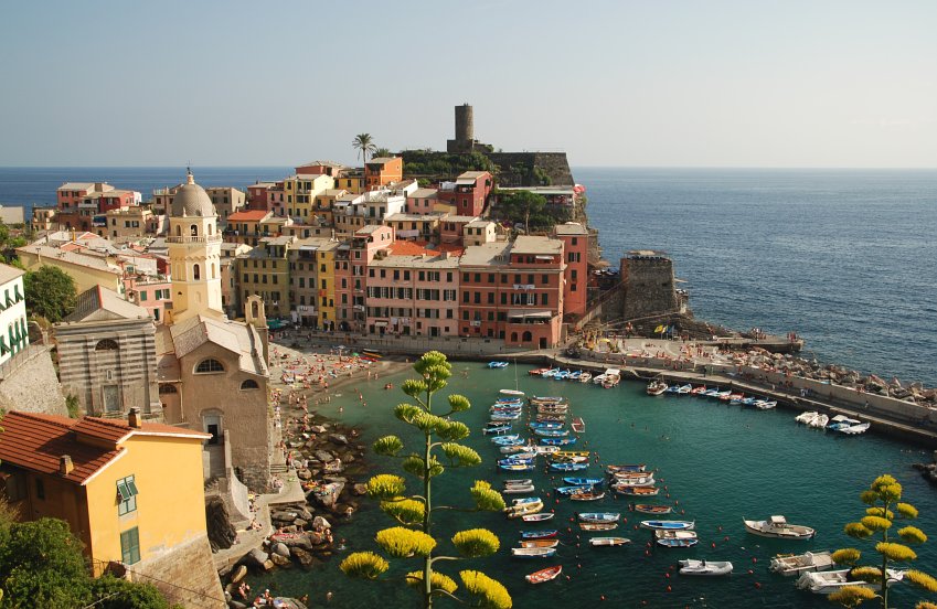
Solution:
<svg viewBox="0 0 937 609"><path fill-rule="evenodd" d="M0 366L0 408L68 416L47 345L32 344Z"/></svg>

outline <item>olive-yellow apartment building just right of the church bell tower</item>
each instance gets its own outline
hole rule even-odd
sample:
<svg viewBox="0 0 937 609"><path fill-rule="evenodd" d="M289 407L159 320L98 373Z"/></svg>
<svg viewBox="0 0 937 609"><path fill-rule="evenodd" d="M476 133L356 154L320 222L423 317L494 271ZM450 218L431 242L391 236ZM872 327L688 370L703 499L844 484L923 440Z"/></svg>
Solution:
<svg viewBox="0 0 937 609"><path fill-rule="evenodd" d="M237 256L242 300L246 302L248 297L259 296L268 317L291 317L289 249L296 241L296 237L265 237L251 252Z"/></svg>

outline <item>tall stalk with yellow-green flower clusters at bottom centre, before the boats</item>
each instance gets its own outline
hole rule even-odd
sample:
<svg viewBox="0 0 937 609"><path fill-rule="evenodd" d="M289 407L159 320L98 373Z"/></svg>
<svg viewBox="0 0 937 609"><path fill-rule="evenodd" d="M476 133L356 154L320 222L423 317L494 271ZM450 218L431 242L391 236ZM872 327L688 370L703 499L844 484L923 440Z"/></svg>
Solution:
<svg viewBox="0 0 937 609"><path fill-rule="evenodd" d="M464 512L500 511L504 507L501 494L488 482L478 480L470 493L475 505L456 507L433 504L433 479L446 468L475 467L481 463L478 452L459 444L469 436L464 423L450 417L468 410L471 405L461 395L449 395L448 410L434 414L433 397L444 389L451 376L452 365L438 351L425 353L413 366L418 378L405 381L403 392L412 400L394 407L394 416L423 434L418 451L405 455L404 444L396 436L385 436L374 442L379 455L401 460L401 469L420 481L420 494L407 495L406 482L395 474L377 474L368 481L368 494L381 501L381 510L394 519L398 526L377 532L374 541L391 558L418 562L419 568L404 576L411 587L419 591L423 607L433 607L434 599L446 596L458 599L456 580L436 569L437 563L490 556L498 552L500 541L486 528L469 528L452 535L450 542L457 555L437 553L438 542L433 536L433 515L441 510ZM355 552L342 560L342 571L350 577L377 579L390 568L390 563L372 552ZM508 609L512 606L508 590L497 580L476 570L461 570L462 586L479 607Z"/></svg>

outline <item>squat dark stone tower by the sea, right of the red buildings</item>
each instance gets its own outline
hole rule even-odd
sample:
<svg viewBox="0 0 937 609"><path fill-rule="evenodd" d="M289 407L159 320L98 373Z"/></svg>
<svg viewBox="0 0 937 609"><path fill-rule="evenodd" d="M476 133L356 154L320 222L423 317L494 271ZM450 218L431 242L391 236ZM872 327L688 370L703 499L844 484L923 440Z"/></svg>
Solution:
<svg viewBox="0 0 937 609"><path fill-rule="evenodd" d="M626 321L660 323L685 312L677 292L673 261L663 252L638 249L621 258L622 316Z"/></svg>

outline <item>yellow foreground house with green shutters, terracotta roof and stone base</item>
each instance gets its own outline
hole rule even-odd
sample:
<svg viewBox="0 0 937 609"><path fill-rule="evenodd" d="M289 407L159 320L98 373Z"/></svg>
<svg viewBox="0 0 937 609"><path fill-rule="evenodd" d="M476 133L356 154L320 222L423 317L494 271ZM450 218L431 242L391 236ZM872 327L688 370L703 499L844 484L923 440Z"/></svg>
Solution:
<svg viewBox="0 0 937 609"><path fill-rule="evenodd" d="M126 570L172 602L224 607L205 531L210 438L142 423L136 409L127 420L12 412L0 434L0 477L21 519L68 523L95 576Z"/></svg>

